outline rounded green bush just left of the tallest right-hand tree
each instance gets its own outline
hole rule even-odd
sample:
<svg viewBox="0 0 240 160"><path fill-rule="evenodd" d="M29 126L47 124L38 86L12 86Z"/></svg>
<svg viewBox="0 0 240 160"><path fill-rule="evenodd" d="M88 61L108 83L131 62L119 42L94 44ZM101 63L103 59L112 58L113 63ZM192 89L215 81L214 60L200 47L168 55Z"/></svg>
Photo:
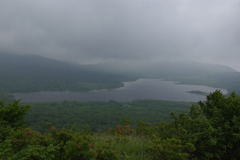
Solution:
<svg viewBox="0 0 240 160"><path fill-rule="evenodd" d="M212 132L214 128L202 115L197 105L193 105L189 114L181 113L178 117L173 114L172 127L175 129L174 137L181 139L184 143L194 144L196 150L194 155L200 159L214 157L209 149L216 145Z"/></svg>

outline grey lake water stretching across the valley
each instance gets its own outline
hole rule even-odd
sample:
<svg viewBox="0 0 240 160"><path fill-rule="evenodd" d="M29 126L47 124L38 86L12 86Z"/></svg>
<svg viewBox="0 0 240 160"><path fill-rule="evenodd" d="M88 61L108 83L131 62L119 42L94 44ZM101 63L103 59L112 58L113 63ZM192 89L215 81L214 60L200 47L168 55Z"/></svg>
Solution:
<svg viewBox="0 0 240 160"><path fill-rule="evenodd" d="M51 92L41 91L32 93L15 93L15 99L22 102L46 102L46 101L132 101L136 99L156 99L169 101L197 102L205 100L205 96L188 93L198 90L202 92L214 92L219 88L200 85L178 84L173 81L160 79L138 79L134 82L124 82L124 87L111 90L93 90L89 92ZM223 94L227 90L220 89Z"/></svg>

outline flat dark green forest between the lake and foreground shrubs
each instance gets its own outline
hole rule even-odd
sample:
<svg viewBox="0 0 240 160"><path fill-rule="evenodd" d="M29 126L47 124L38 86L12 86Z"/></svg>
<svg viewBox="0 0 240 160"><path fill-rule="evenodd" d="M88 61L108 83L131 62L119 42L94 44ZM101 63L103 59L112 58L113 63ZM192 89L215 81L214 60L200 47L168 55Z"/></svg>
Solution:
<svg viewBox="0 0 240 160"><path fill-rule="evenodd" d="M25 103L24 103L25 104ZM132 127L137 127L138 120L149 123L169 121L169 113L186 111L191 103L169 102L161 100L136 100L132 102L41 102L27 103L32 106L26 119L33 129L46 132L46 122L52 123L56 128L84 129L86 125L94 132L106 131L119 124L122 117L124 125L132 122ZM129 107L124 107L128 104Z"/></svg>

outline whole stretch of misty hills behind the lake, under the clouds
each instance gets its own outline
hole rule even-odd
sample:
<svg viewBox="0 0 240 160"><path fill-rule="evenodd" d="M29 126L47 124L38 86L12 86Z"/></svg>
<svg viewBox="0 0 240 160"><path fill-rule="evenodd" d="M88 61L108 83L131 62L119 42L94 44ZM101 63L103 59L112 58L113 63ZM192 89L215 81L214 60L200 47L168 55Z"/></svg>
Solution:
<svg viewBox="0 0 240 160"><path fill-rule="evenodd" d="M228 66L196 62L80 65L34 55L0 54L0 72L0 88L7 92L117 88L124 81L144 77L208 85L240 93L239 72Z"/></svg>

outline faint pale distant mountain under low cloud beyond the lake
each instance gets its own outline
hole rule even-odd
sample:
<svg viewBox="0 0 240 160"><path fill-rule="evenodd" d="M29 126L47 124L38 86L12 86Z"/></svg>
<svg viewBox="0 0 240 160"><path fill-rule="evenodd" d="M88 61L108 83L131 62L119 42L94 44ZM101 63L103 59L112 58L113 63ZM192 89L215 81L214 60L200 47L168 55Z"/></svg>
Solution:
<svg viewBox="0 0 240 160"><path fill-rule="evenodd" d="M89 68L96 70L135 73L149 77L168 77L168 76L193 76L205 73L236 72L234 69L219 65L205 64L198 62L159 62L159 63L132 63L132 62L108 62L88 65Z"/></svg>

